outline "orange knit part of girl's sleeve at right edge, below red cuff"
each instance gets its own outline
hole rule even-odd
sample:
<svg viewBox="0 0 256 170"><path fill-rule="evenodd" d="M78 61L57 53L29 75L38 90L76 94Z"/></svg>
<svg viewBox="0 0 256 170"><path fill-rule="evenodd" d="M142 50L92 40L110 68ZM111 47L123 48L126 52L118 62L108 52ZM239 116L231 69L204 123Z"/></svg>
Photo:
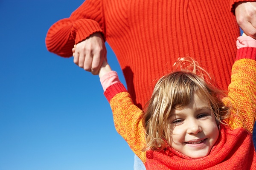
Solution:
<svg viewBox="0 0 256 170"><path fill-rule="evenodd" d="M250 133L256 120L256 61L239 59L232 68L231 83L225 103L231 101L231 117L226 120L231 129L244 127Z"/></svg>

